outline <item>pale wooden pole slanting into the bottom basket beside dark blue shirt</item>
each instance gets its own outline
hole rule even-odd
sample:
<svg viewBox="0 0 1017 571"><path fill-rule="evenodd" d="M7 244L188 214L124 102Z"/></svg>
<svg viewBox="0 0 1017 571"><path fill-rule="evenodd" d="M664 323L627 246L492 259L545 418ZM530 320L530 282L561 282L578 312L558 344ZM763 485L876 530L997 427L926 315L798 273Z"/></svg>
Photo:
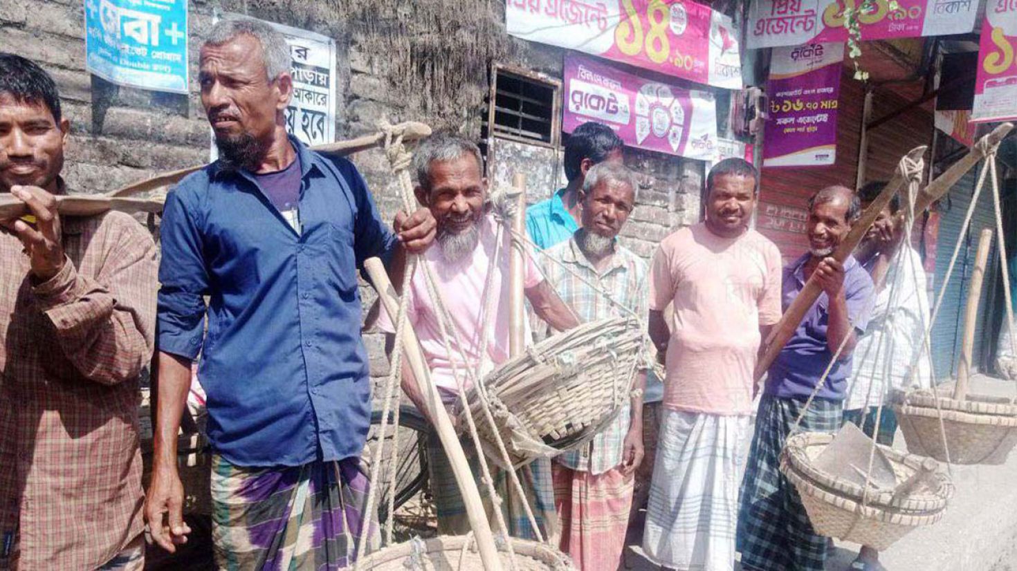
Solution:
<svg viewBox="0 0 1017 571"><path fill-rule="evenodd" d="M399 299L381 260L369 258L364 262L364 269L367 270L367 275L370 276L374 290L378 293L378 299L388 315L399 315ZM484 512L484 504L480 499L480 492L474 484L473 472L470 471L466 453L459 442L459 437L456 436L456 429L448 418L448 413L445 411L444 405L441 403L438 389L431 382L430 370L427 368L427 362L424 360L424 354L412 327L404 328L401 340L406 362L410 366L420 394L423 395L427 417L434 425L438 438L441 440L441 447L444 448L453 472L455 472L456 484L459 486L460 494L463 495L466 514L470 520L470 527L473 528L484 569L486 571L500 571L501 560L498 558L494 536L491 534L487 514Z"/></svg>

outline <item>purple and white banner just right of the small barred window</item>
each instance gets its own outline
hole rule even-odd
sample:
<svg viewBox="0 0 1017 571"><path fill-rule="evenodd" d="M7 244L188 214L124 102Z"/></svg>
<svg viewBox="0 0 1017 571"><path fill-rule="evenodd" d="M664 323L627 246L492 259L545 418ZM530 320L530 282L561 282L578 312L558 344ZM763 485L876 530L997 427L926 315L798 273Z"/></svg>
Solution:
<svg viewBox="0 0 1017 571"><path fill-rule="evenodd" d="M640 77L584 56L565 58L566 133L588 121L603 123L625 144L700 161L717 158L717 104L713 93Z"/></svg>

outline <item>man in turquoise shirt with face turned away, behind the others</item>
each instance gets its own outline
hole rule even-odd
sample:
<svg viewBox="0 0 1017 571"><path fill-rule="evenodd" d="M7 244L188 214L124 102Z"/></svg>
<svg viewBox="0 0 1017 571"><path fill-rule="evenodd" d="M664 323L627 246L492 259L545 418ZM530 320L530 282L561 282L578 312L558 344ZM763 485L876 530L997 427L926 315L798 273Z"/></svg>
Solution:
<svg viewBox="0 0 1017 571"><path fill-rule="evenodd" d="M622 147L621 138L601 123L584 123L573 131L565 142L564 155L569 186L526 210L526 231L538 248L546 250L565 242L579 230L579 191L587 171L598 163L620 165Z"/></svg>

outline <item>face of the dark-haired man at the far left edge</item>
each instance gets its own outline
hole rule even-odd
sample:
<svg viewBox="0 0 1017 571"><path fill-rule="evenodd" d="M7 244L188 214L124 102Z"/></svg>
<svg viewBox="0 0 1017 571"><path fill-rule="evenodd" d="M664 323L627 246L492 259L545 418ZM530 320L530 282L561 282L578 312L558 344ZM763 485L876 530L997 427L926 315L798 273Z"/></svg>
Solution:
<svg viewBox="0 0 1017 571"><path fill-rule="evenodd" d="M56 190L69 131L67 119L57 124L46 104L0 93L0 192L15 185Z"/></svg>

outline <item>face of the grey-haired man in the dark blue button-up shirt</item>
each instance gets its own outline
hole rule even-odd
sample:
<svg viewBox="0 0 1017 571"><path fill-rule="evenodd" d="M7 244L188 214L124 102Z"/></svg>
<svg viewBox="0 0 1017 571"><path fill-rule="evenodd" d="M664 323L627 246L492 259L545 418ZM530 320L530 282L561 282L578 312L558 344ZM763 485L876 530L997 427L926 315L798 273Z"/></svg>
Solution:
<svg viewBox="0 0 1017 571"><path fill-rule="evenodd" d="M250 155L267 147L277 114L289 105L289 74L270 81L261 44L242 34L220 46L201 47L198 80L220 151L241 165L258 158Z"/></svg>

